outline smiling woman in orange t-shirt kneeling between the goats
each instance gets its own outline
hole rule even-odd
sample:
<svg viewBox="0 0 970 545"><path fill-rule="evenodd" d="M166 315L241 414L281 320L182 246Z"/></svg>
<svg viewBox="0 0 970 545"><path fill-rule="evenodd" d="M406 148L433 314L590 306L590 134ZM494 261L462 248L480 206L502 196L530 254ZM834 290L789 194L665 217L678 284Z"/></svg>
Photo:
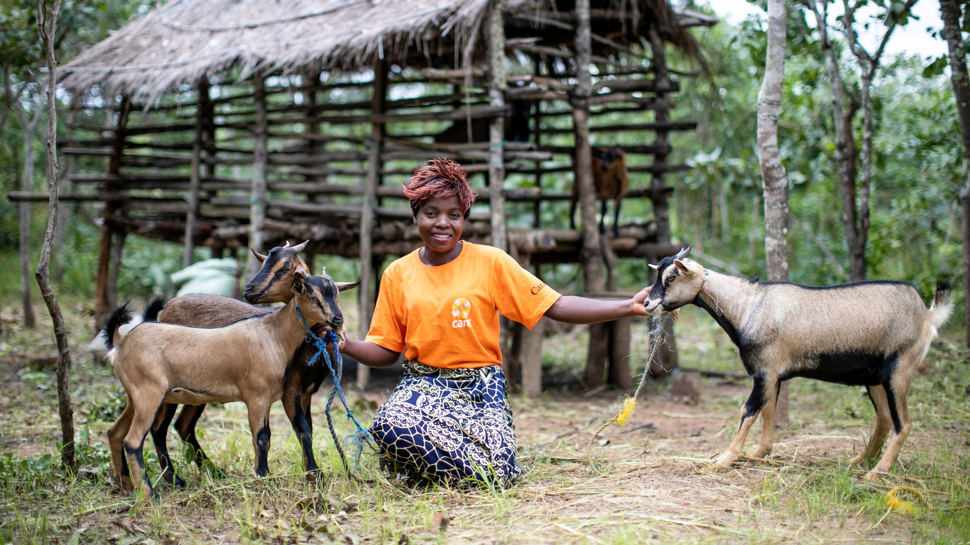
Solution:
<svg viewBox="0 0 970 545"><path fill-rule="evenodd" d="M416 478L508 483L515 426L501 371L499 312L532 329L542 316L592 324L646 315L644 288L627 301L561 296L499 248L463 241L475 193L451 160L435 159L404 187L424 246L392 263L365 340L342 351L404 377L377 410L381 465Z"/></svg>

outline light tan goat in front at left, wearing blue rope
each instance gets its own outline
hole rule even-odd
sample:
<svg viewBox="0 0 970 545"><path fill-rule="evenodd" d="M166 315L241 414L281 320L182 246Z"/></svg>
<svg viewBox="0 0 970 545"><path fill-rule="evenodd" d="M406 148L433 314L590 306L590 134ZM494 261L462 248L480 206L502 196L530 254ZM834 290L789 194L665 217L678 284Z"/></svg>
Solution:
<svg viewBox="0 0 970 545"><path fill-rule="evenodd" d="M108 435L114 475L122 486L127 484L127 463L129 483L139 483L145 497L158 498L147 478L142 450L162 402L245 402L256 474L267 474L270 405L282 397L282 377L306 335L298 313L302 310L307 324L333 327L340 342L344 336L337 305L340 286L329 275L297 272L291 286L294 298L288 304L220 328L146 321L121 336L117 328L129 320L129 310L122 305L113 312L105 326L108 358L128 404Z"/></svg>

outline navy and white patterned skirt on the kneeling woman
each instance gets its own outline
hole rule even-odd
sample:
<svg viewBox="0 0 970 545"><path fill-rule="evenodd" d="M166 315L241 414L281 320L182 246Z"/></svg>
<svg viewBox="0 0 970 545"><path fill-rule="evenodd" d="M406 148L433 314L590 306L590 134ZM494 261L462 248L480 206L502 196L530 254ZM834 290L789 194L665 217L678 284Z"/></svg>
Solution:
<svg viewBox="0 0 970 545"><path fill-rule="evenodd" d="M371 428L381 465L412 477L506 484L522 473L499 366L438 369L404 362Z"/></svg>

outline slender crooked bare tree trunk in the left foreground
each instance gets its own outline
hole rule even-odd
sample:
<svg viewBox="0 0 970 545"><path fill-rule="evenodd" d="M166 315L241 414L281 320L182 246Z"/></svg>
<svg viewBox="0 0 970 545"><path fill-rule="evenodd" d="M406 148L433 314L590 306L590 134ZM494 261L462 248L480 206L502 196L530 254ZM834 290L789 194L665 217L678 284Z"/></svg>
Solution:
<svg viewBox="0 0 970 545"><path fill-rule="evenodd" d="M61 462L65 467L73 468L74 460L74 408L71 406L71 391L69 389L68 369L71 368L71 348L67 343L67 329L64 327L64 316L60 305L54 297L50 287L50 248L53 245L54 231L57 228L57 208L59 199L57 194L57 98L54 89L57 86L57 63L54 60L54 30L57 25L57 13L60 11L61 0L53 0L52 7L48 7L46 0L37 0L37 27L44 42L44 52L48 65L48 228L44 233L44 245L41 247L41 260L37 265L34 276L41 287L44 303L48 305L50 319L54 325L54 337L57 339L57 410L61 421Z"/></svg>

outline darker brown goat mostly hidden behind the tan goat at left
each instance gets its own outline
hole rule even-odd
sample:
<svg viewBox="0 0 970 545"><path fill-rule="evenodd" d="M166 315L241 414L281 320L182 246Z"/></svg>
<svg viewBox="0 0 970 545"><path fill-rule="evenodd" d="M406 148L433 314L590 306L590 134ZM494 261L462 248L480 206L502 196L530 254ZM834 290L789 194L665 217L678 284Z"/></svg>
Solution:
<svg viewBox="0 0 970 545"><path fill-rule="evenodd" d="M218 295L185 295L169 301L165 305L165 312L162 313L159 321L168 324L217 328L254 314L272 311L264 306L254 305L288 303L293 299L293 293L290 291L290 283L294 277L294 273L296 271L302 271L309 274L307 264L299 255L307 247L307 242L309 240L302 244L291 246L287 241L286 245L277 246L270 250L268 255L262 255L257 253L256 250L252 250L256 259L263 264L263 267L256 272L256 275L246 284L245 290L243 291L243 295L253 305L247 305L242 303L242 301ZM308 352L308 356L301 359L304 356L304 352ZM308 358L312 357L314 352L315 350L310 345L305 344L295 359L306 362ZM316 369L316 372L320 372L319 369ZM299 371L292 375L288 374L287 376L287 378L292 379L299 377ZM321 377L320 382L323 381L323 378L326 377ZM299 383L302 381L296 382ZM319 387L319 384L317 384L317 387ZM298 409L292 406L293 402L291 398L284 398L283 407L286 409L286 415L293 425L294 432L299 436L302 434L301 430L307 429L308 426L303 420L309 418L309 412L307 410L309 400L307 399L304 406ZM162 403L161 408L158 409L158 414L155 416L155 421L151 426L151 439L155 444L155 452L158 455L159 465L162 466L162 476L165 482L183 487L185 486L185 481L175 472L175 467L172 465L169 457L167 444L169 425L172 423L172 418L175 416L177 408L178 403ZM176 432L178 432L178 436L182 441L192 446L192 458L195 464L200 469L208 466L216 476L221 477L224 476L223 471L211 465L209 457L202 450L195 434L196 424L199 422L199 417L202 416L205 410L205 403L182 405L182 410L178 413L178 419L176 419ZM307 456L306 449L304 452L304 467L307 468L308 478L315 478L317 466L313 460L312 451L309 451Z"/></svg>

